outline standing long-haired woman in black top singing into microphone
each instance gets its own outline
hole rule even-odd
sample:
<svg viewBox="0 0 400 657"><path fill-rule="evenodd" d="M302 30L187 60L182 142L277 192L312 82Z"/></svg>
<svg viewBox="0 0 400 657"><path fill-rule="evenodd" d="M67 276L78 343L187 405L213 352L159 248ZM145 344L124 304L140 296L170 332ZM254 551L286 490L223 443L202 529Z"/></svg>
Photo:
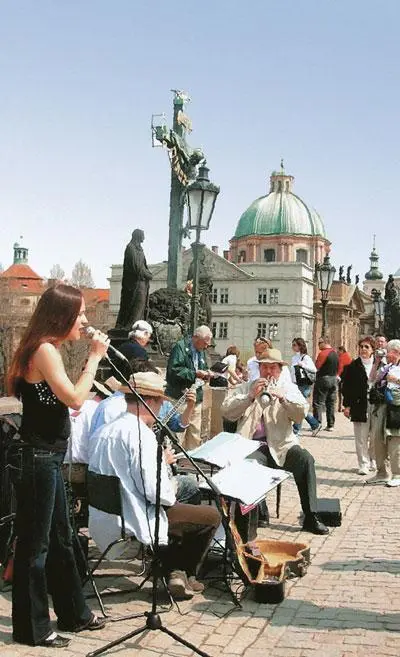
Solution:
<svg viewBox="0 0 400 657"><path fill-rule="evenodd" d="M61 465L70 434L68 407L79 410L108 348L96 331L78 382L68 378L60 354L87 324L80 290L58 284L39 299L15 353L10 394L23 404L22 472L17 491L16 550L12 588L13 638L18 643L62 648L69 639L52 631L47 594L60 630L104 627L86 605L72 548Z"/></svg>

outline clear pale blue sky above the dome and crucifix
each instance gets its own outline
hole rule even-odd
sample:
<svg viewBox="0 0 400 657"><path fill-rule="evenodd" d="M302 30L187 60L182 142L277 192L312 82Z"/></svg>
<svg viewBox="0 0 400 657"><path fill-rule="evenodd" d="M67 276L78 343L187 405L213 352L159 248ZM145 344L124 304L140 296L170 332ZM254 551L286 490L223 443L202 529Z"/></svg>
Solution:
<svg viewBox="0 0 400 657"><path fill-rule="evenodd" d="M143 228L165 259L170 171L151 114L192 98L192 146L221 186L208 245L284 157L332 260L385 274L398 249L399 0L2 0L0 262L20 235L41 275L82 258L98 286ZM189 242L187 242L188 244Z"/></svg>

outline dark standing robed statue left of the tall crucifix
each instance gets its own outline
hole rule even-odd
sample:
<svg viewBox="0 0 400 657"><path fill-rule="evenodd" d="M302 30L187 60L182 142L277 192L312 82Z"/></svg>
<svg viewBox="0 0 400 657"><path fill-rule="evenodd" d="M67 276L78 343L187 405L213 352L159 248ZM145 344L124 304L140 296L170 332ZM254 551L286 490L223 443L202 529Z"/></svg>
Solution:
<svg viewBox="0 0 400 657"><path fill-rule="evenodd" d="M130 330L138 319L147 319L152 274L147 267L143 241L144 232L137 228L125 249L117 329Z"/></svg>

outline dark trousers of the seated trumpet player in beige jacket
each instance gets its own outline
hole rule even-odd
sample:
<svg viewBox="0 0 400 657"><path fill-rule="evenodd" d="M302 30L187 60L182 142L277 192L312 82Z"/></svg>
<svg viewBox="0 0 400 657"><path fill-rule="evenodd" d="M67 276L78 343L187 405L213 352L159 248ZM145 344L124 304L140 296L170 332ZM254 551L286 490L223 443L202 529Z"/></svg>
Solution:
<svg viewBox="0 0 400 657"><path fill-rule="evenodd" d="M314 458L300 445L293 445L287 454L282 466L273 459L267 445L263 445L250 458L268 468L287 470L291 472L299 491L301 508L304 515L317 512L317 479L315 476Z"/></svg>

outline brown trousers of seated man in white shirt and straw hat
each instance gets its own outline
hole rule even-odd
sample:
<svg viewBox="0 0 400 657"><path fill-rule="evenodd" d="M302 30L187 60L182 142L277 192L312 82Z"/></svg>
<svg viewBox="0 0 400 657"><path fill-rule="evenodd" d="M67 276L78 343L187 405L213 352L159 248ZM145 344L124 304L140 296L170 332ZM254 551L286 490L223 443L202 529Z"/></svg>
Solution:
<svg viewBox="0 0 400 657"><path fill-rule="evenodd" d="M221 517L208 504L179 504L166 509L170 543L161 551L165 573L184 570L195 575L207 554Z"/></svg>

